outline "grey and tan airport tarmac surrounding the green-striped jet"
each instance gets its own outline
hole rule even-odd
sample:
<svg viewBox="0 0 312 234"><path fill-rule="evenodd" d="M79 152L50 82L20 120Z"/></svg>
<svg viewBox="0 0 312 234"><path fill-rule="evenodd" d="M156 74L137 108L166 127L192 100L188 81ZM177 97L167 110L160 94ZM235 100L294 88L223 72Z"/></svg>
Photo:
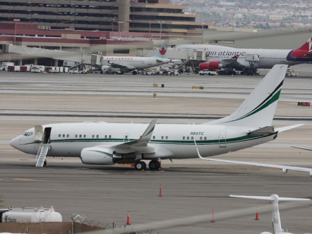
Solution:
<svg viewBox="0 0 312 234"><path fill-rule="evenodd" d="M304 123L280 133L269 143L215 158L304 166L312 168L312 107L297 106L312 100L311 65L294 67L297 78L286 78L273 120L275 127ZM261 74L267 71L261 71ZM47 158L47 167L13 149L9 140L38 124L78 121L204 123L231 114L261 76L202 77L31 74L0 72L0 195L4 206L50 207L64 220L72 214L117 226L191 215L211 214L216 222L172 227L163 234L273 232L271 214L259 214L265 201L229 195L278 194L312 198L308 173L239 166L200 159L168 160L159 171L135 171L117 166L90 166L78 158ZM158 84L155 87L154 84ZM164 88L161 88L164 84ZM192 89L203 86L203 90ZM156 98L153 97L156 93ZM162 197L158 196L159 186ZM246 217L218 220L217 214L254 207ZM292 233L311 233L310 206L281 212L282 227Z"/></svg>

